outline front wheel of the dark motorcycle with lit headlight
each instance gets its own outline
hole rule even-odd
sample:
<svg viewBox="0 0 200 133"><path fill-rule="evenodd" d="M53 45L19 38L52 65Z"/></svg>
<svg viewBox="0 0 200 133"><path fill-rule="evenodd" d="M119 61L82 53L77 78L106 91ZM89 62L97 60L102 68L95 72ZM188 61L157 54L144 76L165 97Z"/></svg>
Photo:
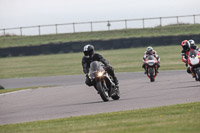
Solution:
<svg viewBox="0 0 200 133"><path fill-rule="evenodd" d="M109 101L108 89L106 87L105 81L99 81L96 84L97 90L104 102Z"/></svg>

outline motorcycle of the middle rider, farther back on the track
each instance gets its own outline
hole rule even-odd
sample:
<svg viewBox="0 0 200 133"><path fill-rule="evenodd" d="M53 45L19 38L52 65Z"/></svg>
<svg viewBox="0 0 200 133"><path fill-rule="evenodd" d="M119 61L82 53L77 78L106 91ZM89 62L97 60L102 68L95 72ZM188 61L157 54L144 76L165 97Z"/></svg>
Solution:
<svg viewBox="0 0 200 133"><path fill-rule="evenodd" d="M153 55L149 55L145 60L147 77L149 77L151 82L154 82L157 76L157 63L158 60Z"/></svg>

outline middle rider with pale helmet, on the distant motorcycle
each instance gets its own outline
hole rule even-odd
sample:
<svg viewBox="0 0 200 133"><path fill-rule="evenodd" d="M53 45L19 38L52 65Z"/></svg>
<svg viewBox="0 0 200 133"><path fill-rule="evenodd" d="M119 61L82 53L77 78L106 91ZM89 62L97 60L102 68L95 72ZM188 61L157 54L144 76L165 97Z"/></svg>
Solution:
<svg viewBox="0 0 200 133"><path fill-rule="evenodd" d="M157 55L157 52L155 50L153 50L153 48L151 46L149 46L146 48L146 51L144 52L144 57L143 57L142 68L144 68L144 70L145 70L144 74L147 74L145 60L149 55L153 55L158 60L156 71L157 71L157 73L159 73L158 68L160 67L160 57Z"/></svg>

